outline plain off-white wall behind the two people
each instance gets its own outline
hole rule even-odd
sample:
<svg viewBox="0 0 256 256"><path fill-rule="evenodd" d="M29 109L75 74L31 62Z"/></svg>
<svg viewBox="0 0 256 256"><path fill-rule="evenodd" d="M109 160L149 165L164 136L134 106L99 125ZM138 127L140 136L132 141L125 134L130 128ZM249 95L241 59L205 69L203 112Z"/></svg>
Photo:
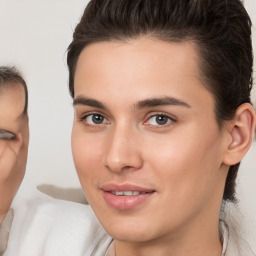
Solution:
<svg viewBox="0 0 256 256"><path fill-rule="evenodd" d="M16 65L29 89L30 146L19 197L38 184L79 187L72 161L72 100L68 93L66 49L86 0L0 0L0 65ZM256 0L245 6L256 25ZM254 28L254 48L256 51ZM255 69L254 69L255 70ZM253 101L256 102L256 90ZM239 208L256 250L256 145L238 179Z"/></svg>

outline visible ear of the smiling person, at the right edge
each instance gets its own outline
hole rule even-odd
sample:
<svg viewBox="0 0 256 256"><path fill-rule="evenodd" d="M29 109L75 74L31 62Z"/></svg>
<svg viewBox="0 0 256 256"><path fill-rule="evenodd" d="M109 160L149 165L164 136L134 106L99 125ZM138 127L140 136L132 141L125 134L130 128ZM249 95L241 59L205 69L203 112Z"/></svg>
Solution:
<svg viewBox="0 0 256 256"><path fill-rule="evenodd" d="M256 116L251 104L244 103L238 107L235 116L228 121L229 142L226 146L223 163L239 163L249 150L255 129Z"/></svg>

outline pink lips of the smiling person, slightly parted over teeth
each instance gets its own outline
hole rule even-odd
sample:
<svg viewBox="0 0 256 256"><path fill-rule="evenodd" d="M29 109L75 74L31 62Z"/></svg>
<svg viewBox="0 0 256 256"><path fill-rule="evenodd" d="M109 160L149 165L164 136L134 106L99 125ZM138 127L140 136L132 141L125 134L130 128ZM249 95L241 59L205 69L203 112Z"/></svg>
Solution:
<svg viewBox="0 0 256 256"><path fill-rule="evenodd" d="M118 210L130 210L148 200L155 193L155 190L131 184L106 184L101 187L103 198L113 208ZM143 194L132 196L117 196L111 192L116 191L137 191Z"/></svg>

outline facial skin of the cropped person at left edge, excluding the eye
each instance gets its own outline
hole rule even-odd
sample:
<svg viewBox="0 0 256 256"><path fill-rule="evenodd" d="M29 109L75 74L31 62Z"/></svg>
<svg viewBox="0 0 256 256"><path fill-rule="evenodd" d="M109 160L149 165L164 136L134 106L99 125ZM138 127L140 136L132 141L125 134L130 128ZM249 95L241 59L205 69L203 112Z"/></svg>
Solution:
<svg viewBox="0 0 256 256"><path fill-rule="evenodd" d="M0 128L15 134L0 139L0 223L4 220L25 174L28 152L28 116L24 114L25 92L17 85L0 91Z"/></svg>

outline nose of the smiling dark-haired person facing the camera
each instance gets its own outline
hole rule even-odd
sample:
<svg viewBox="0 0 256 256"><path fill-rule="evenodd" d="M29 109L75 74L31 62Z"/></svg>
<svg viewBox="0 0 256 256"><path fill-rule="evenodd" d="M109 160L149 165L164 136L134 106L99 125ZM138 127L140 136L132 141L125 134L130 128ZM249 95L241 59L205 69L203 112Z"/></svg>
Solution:
<svg viewBox="0 0 256 256"><path fill-rule="evenodd" d="M112 172L138 170L143 165L136 132L131 129L115 128L108 136L105 166Z"/></svg>

